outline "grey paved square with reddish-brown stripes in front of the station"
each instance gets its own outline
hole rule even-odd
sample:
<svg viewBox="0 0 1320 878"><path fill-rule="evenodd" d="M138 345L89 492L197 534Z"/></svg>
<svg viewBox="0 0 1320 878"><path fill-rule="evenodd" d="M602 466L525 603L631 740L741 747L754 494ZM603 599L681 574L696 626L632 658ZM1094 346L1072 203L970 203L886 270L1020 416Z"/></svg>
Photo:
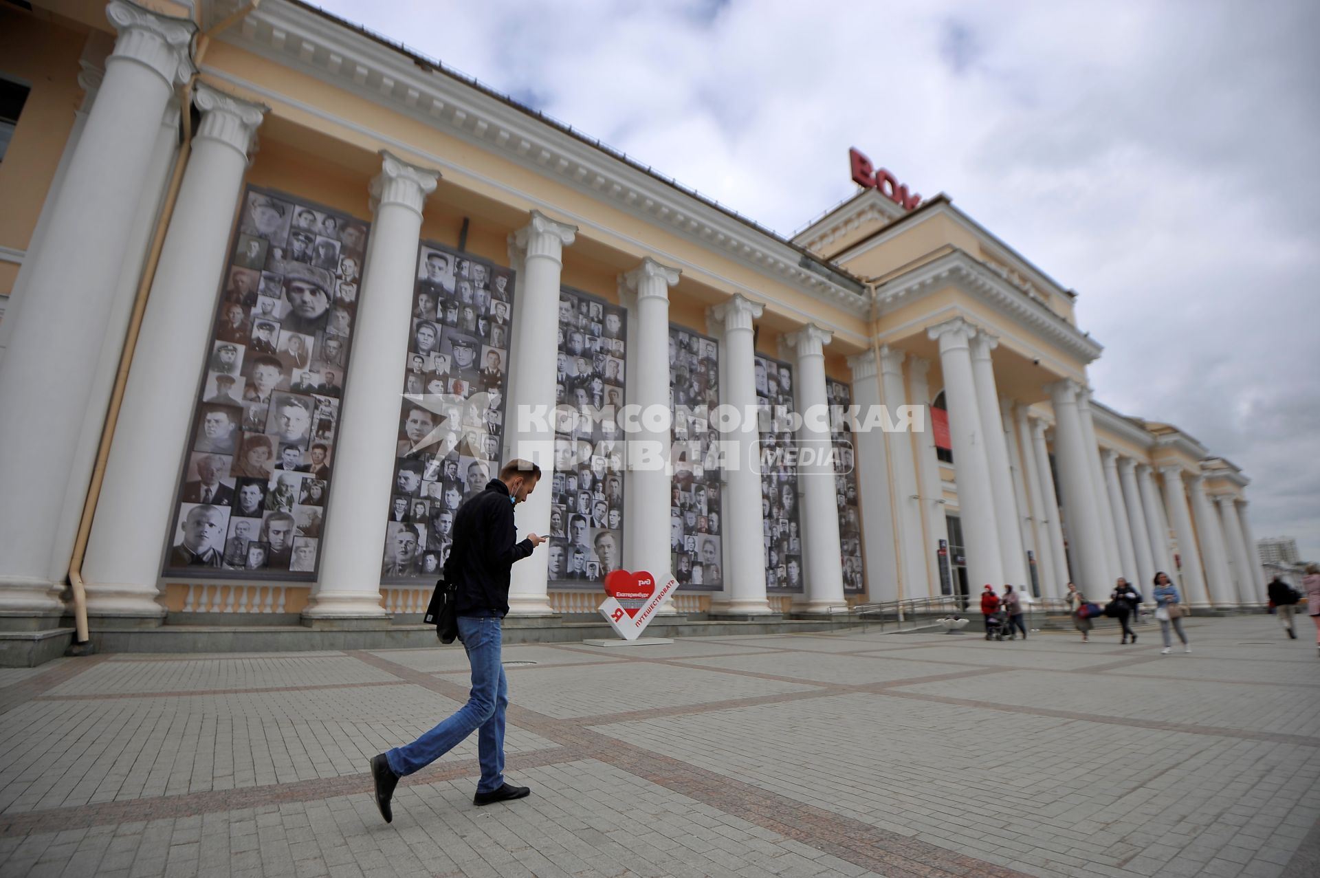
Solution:
<svg viewBox="0 0 1320 878"><path fill-rule="evenodd" d="M388 825L459 647L61 659L0 675L0 875L1320 874L1309 631L1187 627L510 646L532 796L474 808L473 738Z"/></svg>

